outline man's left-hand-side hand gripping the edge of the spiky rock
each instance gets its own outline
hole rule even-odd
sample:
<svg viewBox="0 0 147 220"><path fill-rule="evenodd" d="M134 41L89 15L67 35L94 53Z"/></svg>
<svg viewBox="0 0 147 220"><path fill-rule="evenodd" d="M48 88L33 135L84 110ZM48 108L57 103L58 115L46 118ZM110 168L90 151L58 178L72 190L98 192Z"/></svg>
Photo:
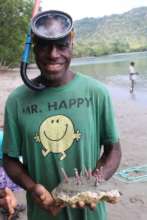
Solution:
<svg viewBox="0 0 147 220"><path fill-rule="evenodd" d="M63 205L57 206L55 204L51 193L41 184L36 184L31 189L31 194L40 207L50 212L52 215L57 215L61 208L63 208Z"/></svg>

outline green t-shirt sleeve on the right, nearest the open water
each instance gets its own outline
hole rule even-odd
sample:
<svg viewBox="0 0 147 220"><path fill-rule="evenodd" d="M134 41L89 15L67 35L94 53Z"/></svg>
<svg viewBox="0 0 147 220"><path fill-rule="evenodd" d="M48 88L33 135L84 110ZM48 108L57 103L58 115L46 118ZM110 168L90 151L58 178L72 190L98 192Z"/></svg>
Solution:
<svg viewBox="0 0 147 220"><path fill-rule="evenodd" d="M106 90L101 105L101 145L117 143L119 141L118 128L116 126L116 118L114 108L109 92Z"/></svg>

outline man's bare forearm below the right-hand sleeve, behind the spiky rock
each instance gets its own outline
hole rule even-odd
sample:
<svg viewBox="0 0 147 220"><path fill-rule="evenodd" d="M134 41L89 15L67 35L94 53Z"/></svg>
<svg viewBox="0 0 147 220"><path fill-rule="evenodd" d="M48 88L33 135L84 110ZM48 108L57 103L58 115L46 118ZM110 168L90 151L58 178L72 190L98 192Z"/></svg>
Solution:
<svg viewBox="0 0 147 220"><path fill-rule="evenodd" d="M115 144L104 145L104 151L100 160L97 161L96 169L103 167L103 177L105 180L108 180L119 167L120 160L121 147L119 142Z"/></svg>

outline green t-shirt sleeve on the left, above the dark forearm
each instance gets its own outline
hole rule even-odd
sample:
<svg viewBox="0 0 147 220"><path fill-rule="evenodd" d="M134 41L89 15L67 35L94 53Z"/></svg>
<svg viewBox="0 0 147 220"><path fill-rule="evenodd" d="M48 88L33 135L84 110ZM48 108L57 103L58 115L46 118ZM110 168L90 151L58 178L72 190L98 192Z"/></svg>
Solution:
<svg viewBox="0 0 147 220"><path fill-rule="evenodd" d="M5 106L3 153L10 157L20 156L21 134L17 117L17 102L15 98L9 97Z"/></svg>

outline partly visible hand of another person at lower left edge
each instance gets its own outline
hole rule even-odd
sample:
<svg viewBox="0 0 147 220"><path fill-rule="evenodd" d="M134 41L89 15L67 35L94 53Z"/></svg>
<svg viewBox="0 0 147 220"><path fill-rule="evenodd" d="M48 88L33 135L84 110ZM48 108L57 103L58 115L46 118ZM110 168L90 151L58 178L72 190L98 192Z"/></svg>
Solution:
<svg viewBox="0 0 147 220"><path fill-rule="evenodd" d="M13 192L7 187L1 190L0 191L0 207L8 210L8 213L9 213L8 219L11 219L11 217L15 213L16 206L17 206L17 200Z"/></svg>

